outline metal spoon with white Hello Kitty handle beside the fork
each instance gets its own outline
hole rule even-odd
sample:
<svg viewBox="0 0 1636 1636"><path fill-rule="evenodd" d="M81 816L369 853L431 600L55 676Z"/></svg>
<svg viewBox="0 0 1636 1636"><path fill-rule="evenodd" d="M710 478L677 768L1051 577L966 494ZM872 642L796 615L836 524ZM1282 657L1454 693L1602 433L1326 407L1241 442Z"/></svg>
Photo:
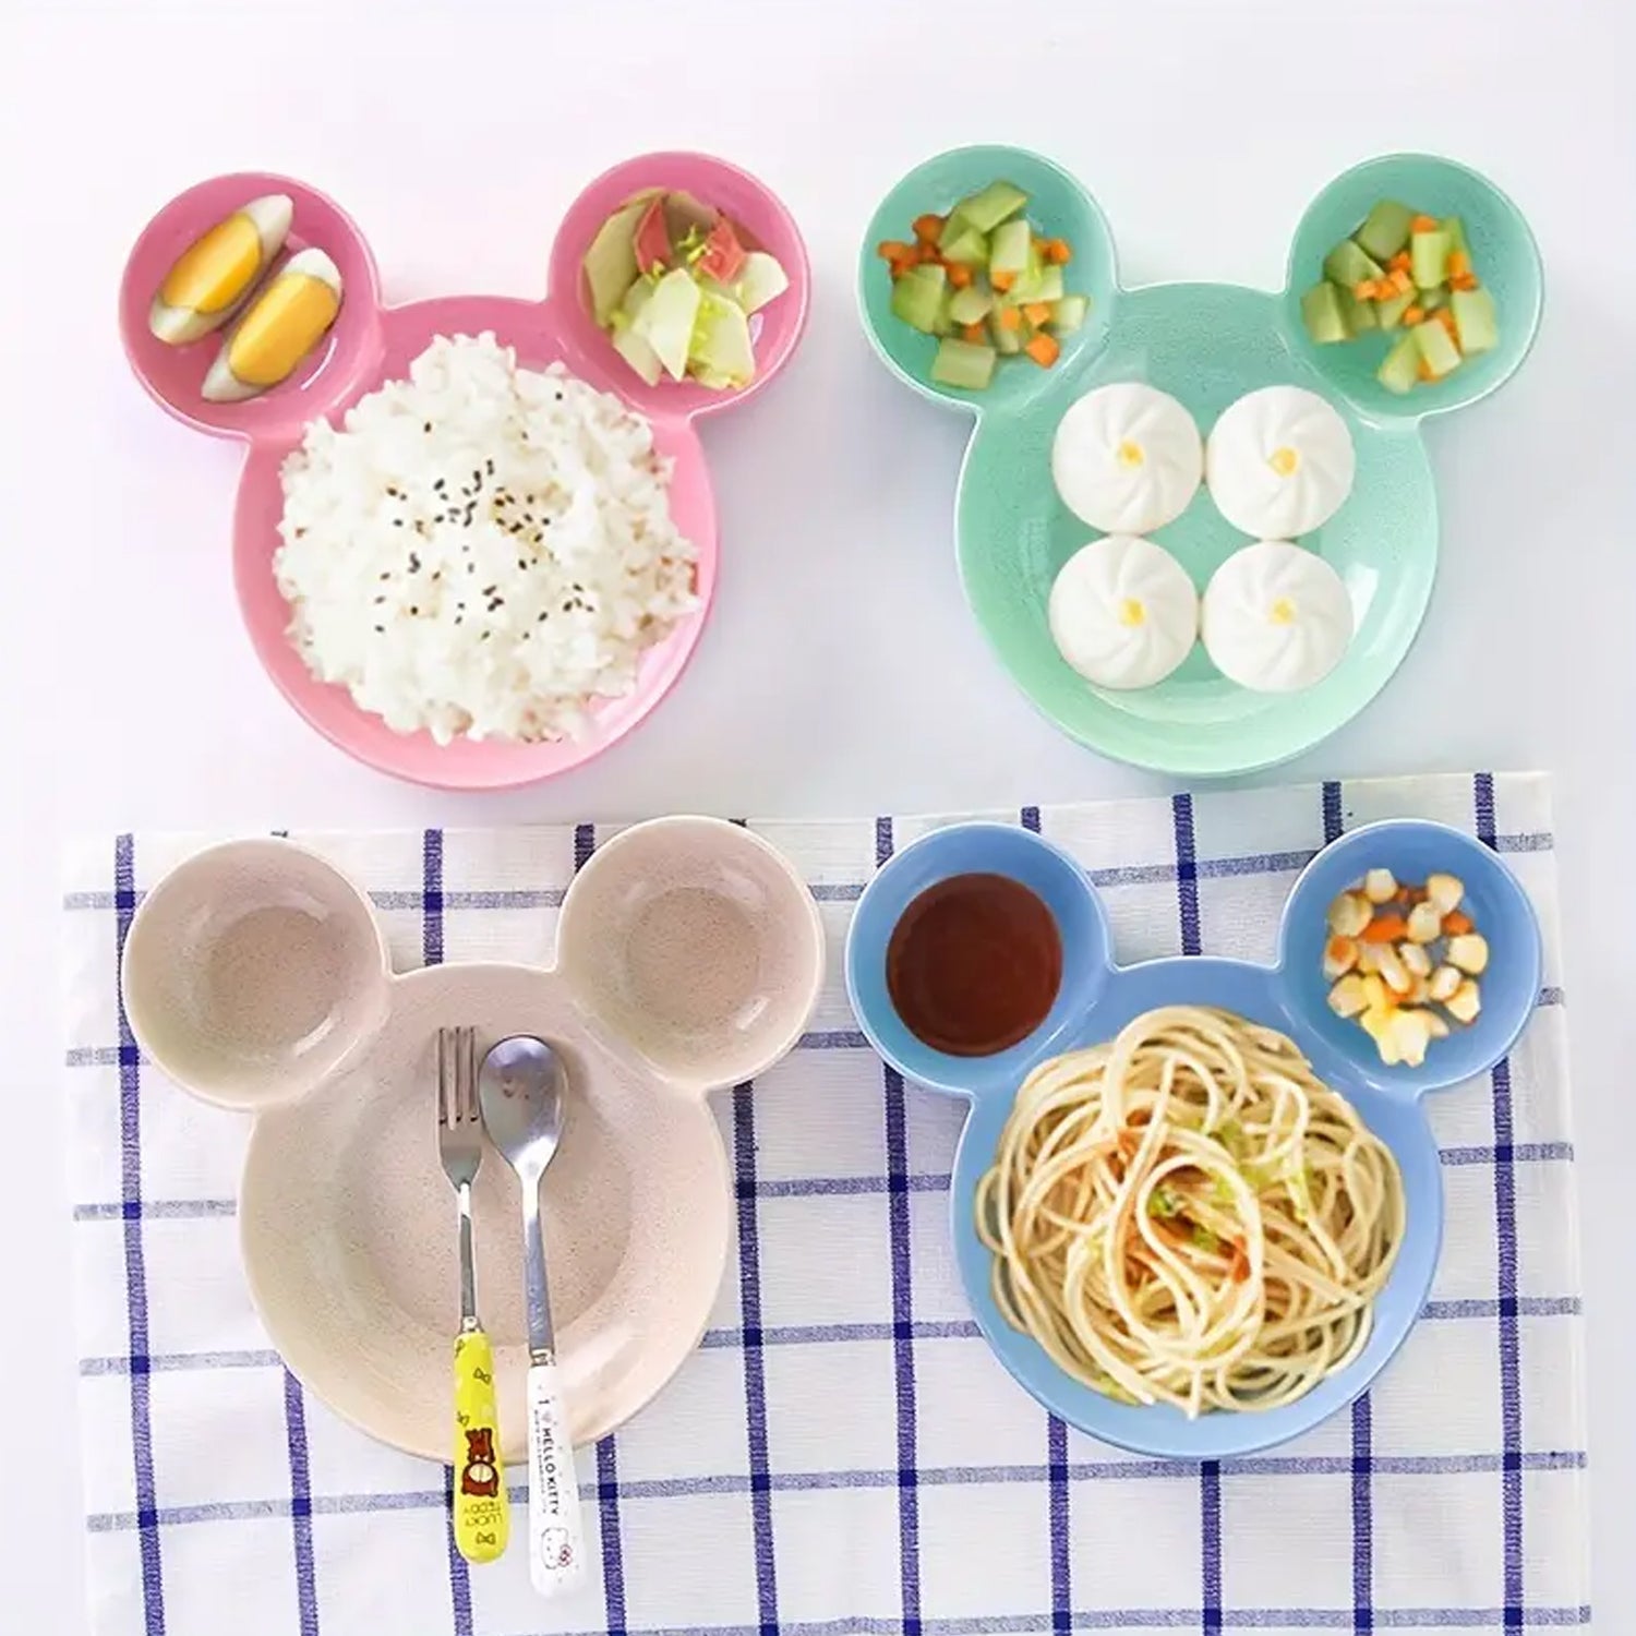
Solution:
<svg viewBox="0 0 1636 1636"><path fill-rule="evenodd" d="M551 1597L586 1567L574 1448L568 1436L540 1234L540 1180L563 1134L568 1072L542 1039L502 1039L478 1075L483 1127L522 1183L524 1276L528 1299L528 1577Z"/></svg>

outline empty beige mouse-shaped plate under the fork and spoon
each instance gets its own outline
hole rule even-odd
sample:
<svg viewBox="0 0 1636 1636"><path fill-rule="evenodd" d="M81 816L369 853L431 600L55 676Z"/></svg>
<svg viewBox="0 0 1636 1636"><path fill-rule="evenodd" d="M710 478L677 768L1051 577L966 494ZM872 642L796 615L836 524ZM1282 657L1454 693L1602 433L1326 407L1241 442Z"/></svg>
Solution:
<svg viewBox="0 0 1636 1636"><path fill-rule="evenodd" d="M571 1432L627 1420L697 1345L731 1243L731 1175L705 1101L800 1037L823 931L800 877L746 829L663 818L571 887L558 965L394 977L368 900L286 841L200 852L126 941L131 1027L209 1103L255 1112L240 1248L291 1371L396 1448L447 1459L458 1327L455 1198L438 1162L437 1029L537 1034L569 1067L543 1184ZM492 1150L474 1196L478 1301L509 1458L524 1446L522 1227Z"/></svg>

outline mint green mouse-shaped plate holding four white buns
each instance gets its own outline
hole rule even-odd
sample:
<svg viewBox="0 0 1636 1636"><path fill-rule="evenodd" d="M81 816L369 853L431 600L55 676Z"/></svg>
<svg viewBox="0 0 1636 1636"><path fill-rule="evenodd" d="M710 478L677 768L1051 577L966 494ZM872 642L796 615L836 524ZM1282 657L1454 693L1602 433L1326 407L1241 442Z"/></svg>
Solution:
<svg viewBox="0 0 1636 1636"><path fill-rule="evenodd" d="M1052 370L1001 358L985 393L936 386L936 340L892 316L882 239L911 237L924 211L944 213L1003 178L1029 195L1029 218L1073 245L1068 288L1091 316L1063 342ZM1374 371L1384 335L1315 347L1301 293L1379 198L1461 216L1472 267L1494 291L1500 345L1405 398ZM1523 362L1539 326L1541 268L1517 206L1464 165L1427 154L1373 159L1332 182L1296 229L1279 294L1237 285L1119 286L1112 236L1096 201L1065 170L1016 147L960 147L910 172L882 201L859 255L864 330L887 368L921 396L975 416L955 502L955 551L967 600L1013 681L1063 733L1091 749L1178 777L1229 777L1299 756L1350 721L1402 663L1436 576L1436 489L1422 422L1487 396ZM1157 687L1094 687L1057 653L1045 620L1052 581L1094 530L1057 497L1050 445L1057 422L1094 386L1145 381L1178 398L1209 435L1234 399L1260 386L1322 393L1346 417L1358 473L1346 504L1301 543L1340 573L1356 633L1342 663L1299 694L1255 694L1229 682L1194 646ZM1199 489L1153 540L1202 591L1248 545Z"/></svg>

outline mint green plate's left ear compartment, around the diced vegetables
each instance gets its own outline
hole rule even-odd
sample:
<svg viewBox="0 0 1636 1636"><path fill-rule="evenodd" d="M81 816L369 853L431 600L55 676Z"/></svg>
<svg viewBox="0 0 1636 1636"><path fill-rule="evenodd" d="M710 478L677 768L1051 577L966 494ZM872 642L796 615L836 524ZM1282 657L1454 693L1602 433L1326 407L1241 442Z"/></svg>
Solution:
<svg viewBox="0 0 1636 1636"><path fill-rule="evenodd" d="M1090 296L1085 322L1062 339L1062 357L1050 370L1027 358L1001 358L991 384L980 393L941 386L931 378L937 339L892 316L892 273L879 255L887 240L911 240L915 219L946 214L991 182L1011 182L1027 193L1027 218L1042 237L1065 239L1073 260L1063 267L1070 293ZM955 147L916 165L882 201L869 221L857 255L857 306L864 334L882 362L905 384L937 402L1011 414L1032 402L1047 383L1094 357L1108 344L1119 296L1114 240L1101 208L1060 165L1024 147L991 144Z"/></svg>

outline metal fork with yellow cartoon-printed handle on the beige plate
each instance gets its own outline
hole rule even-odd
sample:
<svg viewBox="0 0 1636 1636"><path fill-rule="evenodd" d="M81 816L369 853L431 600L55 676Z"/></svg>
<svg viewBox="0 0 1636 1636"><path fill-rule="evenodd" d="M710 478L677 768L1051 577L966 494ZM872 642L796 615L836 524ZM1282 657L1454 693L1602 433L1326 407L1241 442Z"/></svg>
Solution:
<svg viewBox="0 0 1636 1636"><path fill-rule="evenodd" d="M471 1184L483 1165L478 1040L470 1027L437 1031L437 1152L460 1204L460 1333L455 1337L455 1544L492 1562L510 1533L494 1400L494 1348L478 1322L471 1253Z"/></svg>

